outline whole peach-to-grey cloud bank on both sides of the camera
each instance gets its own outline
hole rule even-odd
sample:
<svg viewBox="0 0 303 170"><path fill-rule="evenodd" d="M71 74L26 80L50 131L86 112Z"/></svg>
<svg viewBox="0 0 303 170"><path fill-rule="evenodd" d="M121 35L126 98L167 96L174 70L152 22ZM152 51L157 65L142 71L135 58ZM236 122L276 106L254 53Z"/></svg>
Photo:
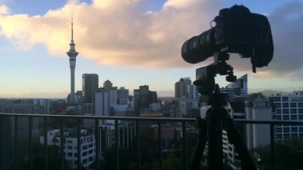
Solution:
<svg viewBox="0 0 303 170"><path fill-rule="evenodd" d="M86 59L111 66L190 67L180 56L183 42L209 29L222 4L223 0L167 0L160 11L142 11L140 0L93 0L92 4L69 0L41 16L10 15L1 5L0 35L19 49L42 43L51 55L66 57L73 11L76 49ZM302 75L303 3L283 5L268 17L275 55L269 67L258 69L258 75ZM251 72L248 59L232 57L229 63L236 71Z"/></svg>

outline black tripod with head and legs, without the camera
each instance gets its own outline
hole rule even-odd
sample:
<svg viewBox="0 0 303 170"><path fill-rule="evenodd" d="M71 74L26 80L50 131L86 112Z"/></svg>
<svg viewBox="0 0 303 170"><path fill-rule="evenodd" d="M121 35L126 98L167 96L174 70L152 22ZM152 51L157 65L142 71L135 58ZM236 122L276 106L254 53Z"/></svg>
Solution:
<svg viewBox="0 0 303 170"><path fill-rule="evenodd" d="M223 107L227 104L227 94L220 93L219 85L215 84L214 77L216 74L228 75L226 80L234 82L236 77L233 75L233 68L226 64L229 59L227 53L221 52L214 54L215 63L196 70L196 81L198 91L202 96L208 97L208 102L212 106L206 112L206 117L197 118L199 125L199 143L196 148L191 170L197 170L206 145L207 152L207 169L223 170L223 146L222 130L226 130L228 141L234 144L241 161L246 170L257 170L256 165L241 139L239 130L227 110Z"/></svg>

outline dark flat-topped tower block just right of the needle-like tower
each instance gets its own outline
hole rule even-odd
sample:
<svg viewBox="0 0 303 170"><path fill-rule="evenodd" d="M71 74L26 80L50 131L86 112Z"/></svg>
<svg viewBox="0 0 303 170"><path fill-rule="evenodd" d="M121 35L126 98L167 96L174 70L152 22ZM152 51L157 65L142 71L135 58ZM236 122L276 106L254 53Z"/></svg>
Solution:
<svg viewBox="0 0 303 170"><path fill-rule="evenodd" d="M82 75L82 97L83 103L95 103L95 92L99 86L97 74Z"/></svg>

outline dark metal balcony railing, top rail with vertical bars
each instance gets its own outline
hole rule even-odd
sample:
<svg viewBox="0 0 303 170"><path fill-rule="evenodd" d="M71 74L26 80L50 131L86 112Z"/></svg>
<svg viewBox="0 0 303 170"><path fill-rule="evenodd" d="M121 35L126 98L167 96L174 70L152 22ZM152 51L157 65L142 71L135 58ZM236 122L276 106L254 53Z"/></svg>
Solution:
<svg viewBox="0 0 303 170"><path fill-rule="evenodd" d="M32 119L33 118L43 118L43 135L44 135L44 170L48 170L47 164L47 118L60 118L60 157L61 157L61 170L64 170L64 143L63 143L63 120L64 119L76 119L77 120L77 131L80 132L80 120L81 119L94 119L95 120L95 140L96 140L96 170L99 170L99 151L100 151L100 134L99 134L99 121L98 120L115 120L115 147L116 147L116 169L119 170L119 145L118 145L118 120L135 121L136 128L135 134L137 143L137 154L138 154L138 170L141 170L141 159L140 159L140 135L139 135L139 122L142 121L154 121L157 122L157 138L158 138L158 150L159 150L159 170L163 170L162 167L162 148L161 148L161 122L181 122L182 123L182 139L183 139L183 169L187 170L187 156L186 156L186 122L196 122L194 118L164 118L164 117L118 117L118 116L82 116L82 115L47 115L47 114L15 114L15 113L0 113L1 116L14 117L14 147L15 147L15 167L16 170L19 169L18 162L18 117L28 117L28 136L29 136L29 168L33 170L33 160L32 160ZM275 170L275 125L303 125L303 121L298 120L248 120L248 119L235 119L236 122L246 123L246 124L267 124L270 125L270 145L271 145L271 169ZM81 144L80 144L80 133L77 133L77 168L81 170ZM3 137L1 137L3 139ZM80 144L80 145L79 145Z"/></svg>

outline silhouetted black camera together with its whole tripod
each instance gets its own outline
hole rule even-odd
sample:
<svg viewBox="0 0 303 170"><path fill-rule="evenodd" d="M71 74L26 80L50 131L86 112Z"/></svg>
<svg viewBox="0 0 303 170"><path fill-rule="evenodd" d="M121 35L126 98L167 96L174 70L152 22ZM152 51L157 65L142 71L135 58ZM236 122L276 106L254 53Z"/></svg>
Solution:
<svg viewBox="0 0 303 170"><path fill-rule="evenodd" d="M200 99L211 107L206 117L197 118L199 125L199 144L191 170L196 170L201 161L204 147L207 149L207 169L223 169L222 130L228 134L228 141L234 144L246 170L257 170L256 165L241 138L233 119L225 109L228 95L221 93L215 84L215 76L226 75L226 81L234 82L233 67L226 63L228 53L238 53L242 58L251 58L253 72L256 67L268 66L274 55L271 27L266 16L251 13L243 5L224 8L213 20L216 25L211 29L185 41L181 49L183 59L188 63L199 63L214 56L214 63L196 69L196 81Z"/></svg>

